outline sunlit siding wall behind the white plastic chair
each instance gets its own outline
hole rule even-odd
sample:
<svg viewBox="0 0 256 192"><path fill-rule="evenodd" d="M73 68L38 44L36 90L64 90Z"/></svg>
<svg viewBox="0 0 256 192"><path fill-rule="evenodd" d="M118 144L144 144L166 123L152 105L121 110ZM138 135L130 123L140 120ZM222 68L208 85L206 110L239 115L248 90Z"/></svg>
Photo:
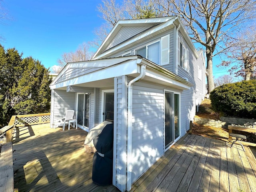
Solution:
<svg viewBox="0 0 256 192"><path fill-rule="evenodd" d="M68 109L75 110L75 93L66 90L54 90L51 104L51 127L54 126L56 119L64 118Z"/></svg>

